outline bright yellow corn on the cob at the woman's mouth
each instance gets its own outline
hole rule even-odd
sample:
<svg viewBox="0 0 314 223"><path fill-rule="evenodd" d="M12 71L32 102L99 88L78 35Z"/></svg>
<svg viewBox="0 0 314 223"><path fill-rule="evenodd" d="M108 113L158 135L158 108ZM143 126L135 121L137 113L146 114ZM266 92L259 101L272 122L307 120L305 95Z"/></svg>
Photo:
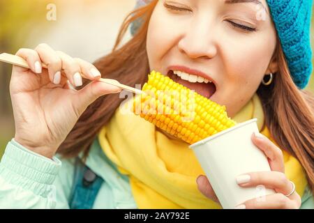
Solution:
<svg viewBox="0 0 314 223"><path fill-rule="evenodd" d="M151 72L133 112L188 144L205 139L236 124L225 106L204 98L159 72Z"/></svg>

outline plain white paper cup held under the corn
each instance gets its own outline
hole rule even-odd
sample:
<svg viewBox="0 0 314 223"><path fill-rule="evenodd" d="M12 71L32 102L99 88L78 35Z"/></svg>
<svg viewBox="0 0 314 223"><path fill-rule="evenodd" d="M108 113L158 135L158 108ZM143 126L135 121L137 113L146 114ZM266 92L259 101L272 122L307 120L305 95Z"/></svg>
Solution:
<svg viewBox="0 0 314 223"><path fill-rule="evenodd" d="M254 198L261 201L275 193L262 185L244 188L237 184L241 174L271 171L266 155L251 140L253 132L259 132L256 118L190 145L223 208L235 208Z"/></svg>

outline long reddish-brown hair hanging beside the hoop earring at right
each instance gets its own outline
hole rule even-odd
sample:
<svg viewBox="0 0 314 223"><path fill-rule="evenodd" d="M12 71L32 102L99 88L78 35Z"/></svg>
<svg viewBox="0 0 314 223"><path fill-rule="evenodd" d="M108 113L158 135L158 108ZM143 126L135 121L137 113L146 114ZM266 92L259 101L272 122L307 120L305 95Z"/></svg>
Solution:
<svg viewBox="0 0 314 223"><path fill-rule="evenodd" d="M257 90L265 125L276 144L301 162L314 191L314 96L294 84L281 44L277 45L274 56L278 63L274 82Z"/></svg>

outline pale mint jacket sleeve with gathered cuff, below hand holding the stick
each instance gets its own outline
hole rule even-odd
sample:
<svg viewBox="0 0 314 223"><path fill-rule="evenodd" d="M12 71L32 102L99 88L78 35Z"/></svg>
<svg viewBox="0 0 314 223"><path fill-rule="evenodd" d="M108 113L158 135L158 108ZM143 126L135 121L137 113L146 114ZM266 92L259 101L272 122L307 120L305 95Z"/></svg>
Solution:
<svg viewBox="0 0 314 223"><path fill-rule="evenodd" d="M50 160L12 139L0 162L0 208L68 208L60 169L57 157Z"/></svg>

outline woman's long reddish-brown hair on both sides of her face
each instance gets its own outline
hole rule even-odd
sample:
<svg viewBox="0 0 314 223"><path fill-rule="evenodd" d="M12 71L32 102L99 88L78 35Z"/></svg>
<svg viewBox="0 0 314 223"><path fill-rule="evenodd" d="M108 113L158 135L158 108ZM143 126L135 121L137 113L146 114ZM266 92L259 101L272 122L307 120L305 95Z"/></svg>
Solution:
<svg viewBox="0 0 314 223"><path fill-rule="evenodd" d="M117 79L123 84L144 84L149 73L146 38L149 19L158 0L134 10L124 20L114 49L94 63L104 77ZM135 36L119 48L128 27L142 19ZM314 189L314 97L295 86L280 44L274 54L279 70L271 86L261 85L257 93L264 107L265 124L280 148L297 157L306 170L308 183ZM86 84L86 83L85 83ZM87 157L91 143L124 99L119 95L105 95L92 103L77 121L73 130L59 147L63 157L76 157L83 152Z"/></svg>

